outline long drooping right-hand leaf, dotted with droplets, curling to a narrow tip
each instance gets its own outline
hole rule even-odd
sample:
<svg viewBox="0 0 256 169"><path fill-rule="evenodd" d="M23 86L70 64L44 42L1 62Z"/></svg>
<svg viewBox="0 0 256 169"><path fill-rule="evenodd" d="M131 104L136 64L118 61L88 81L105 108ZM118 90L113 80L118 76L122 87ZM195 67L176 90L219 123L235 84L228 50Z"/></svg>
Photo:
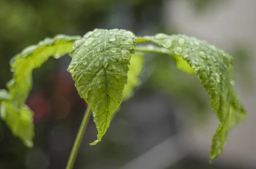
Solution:
<svg viewBox="0 0 256 169"><path fill-rule="evenodd" d="M233 92L232 56L205 41L185 35L157 34L155 36L138 37L136 42L154 42L169 50L169 54L178 61L177 65L180 66L180 69L186 72L190 71L186 68L186 65L180 63L182 59L195 71L207 90L211 106L220 121L219 127L213 136L210 151L211 160L216 158L222 152L228 132L247 116L244 107ZM160 53L168 54L166 51Z"/></svg>

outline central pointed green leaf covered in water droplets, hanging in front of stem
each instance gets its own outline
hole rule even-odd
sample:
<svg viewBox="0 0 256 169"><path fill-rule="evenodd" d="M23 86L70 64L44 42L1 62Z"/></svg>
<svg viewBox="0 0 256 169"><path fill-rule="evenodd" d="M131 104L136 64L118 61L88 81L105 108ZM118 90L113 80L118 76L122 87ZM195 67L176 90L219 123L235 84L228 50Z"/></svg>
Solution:
<svg viewBox="0 0 256 169"><path fill-rule="evenodd" d="M68 71L79 95L92 107L98 130L98 139L91 143L95 145L122 102L135 36L126 30L95 29L85 34L79 44L70 54Z"/></svg>

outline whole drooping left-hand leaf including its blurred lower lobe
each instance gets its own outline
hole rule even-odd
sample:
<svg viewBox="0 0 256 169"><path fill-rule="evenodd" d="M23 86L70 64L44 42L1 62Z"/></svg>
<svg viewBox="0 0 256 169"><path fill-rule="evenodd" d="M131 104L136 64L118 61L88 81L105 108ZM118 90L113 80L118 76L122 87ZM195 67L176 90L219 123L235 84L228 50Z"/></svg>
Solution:
<svg viewBox="0 0 256 169"><path fill-rule="evenodd" d="M12 133L18 136L26 146L32 146L34 136L33 113L25 105L32 87L32 70L40 67L50 56L60 57L72 50L73 42L80 39L78 36L70 37L57 35L46 38L37 45L25 48L11 61L13 79L7 83L10 101L2 102L1 118L10 127ZM6 97L0 93L1 97Z"/></svg>

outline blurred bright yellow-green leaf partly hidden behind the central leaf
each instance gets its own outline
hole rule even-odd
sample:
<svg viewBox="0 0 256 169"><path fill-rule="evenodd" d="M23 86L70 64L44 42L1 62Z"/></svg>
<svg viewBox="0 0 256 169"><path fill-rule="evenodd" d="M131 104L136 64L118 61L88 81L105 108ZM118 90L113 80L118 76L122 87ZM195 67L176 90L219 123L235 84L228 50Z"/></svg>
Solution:
<svg viewBox="0 0 256 169"><path fill-rule="evenodd" d="M131 98L134 88L140 85L139 76L143 68L144 54L132 54L129 65L127 84L125 85L122 101Z"/></svg>

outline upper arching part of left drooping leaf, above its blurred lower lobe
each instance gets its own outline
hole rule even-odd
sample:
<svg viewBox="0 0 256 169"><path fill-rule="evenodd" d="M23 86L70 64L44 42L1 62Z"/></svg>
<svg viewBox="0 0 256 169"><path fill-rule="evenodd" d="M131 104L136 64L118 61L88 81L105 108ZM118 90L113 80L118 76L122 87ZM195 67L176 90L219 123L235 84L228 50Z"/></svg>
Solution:
<svg viewBox="0 0 256 169"><path fill-rule="evenodd" d="M10 65L14 76L8 82L8 88L12 99L17 101L20 107L25 103L32 87L32 70L39 68L50 56L59 58L72 51L72 45L77 36L57 35L54 38L46 38L37 45L25 48L20 54L14 56Z"/></svg>

